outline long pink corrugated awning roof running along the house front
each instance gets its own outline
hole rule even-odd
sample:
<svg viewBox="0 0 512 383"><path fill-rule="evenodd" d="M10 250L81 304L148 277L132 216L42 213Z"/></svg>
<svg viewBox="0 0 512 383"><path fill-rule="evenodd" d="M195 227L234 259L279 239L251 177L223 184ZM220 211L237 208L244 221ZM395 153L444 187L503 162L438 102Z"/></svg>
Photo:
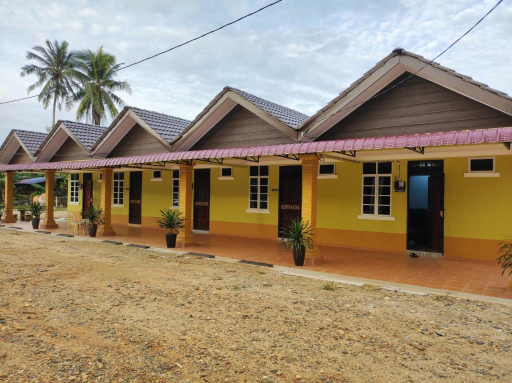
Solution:
<svg viewBox="0 0 512 383"><path fill-rule="evenodd" d="M0 165L0 171L73 170L94 167L116 167L147 164L160 161L200 160L211 158L258 157L287 154L307 154L341 151L392 149L442 145L466 145L512 141L512 127L498 127L472 131L355 138L334 141L297 142L282 145L206 149L188 152L146 154L132 157L101 158L85 161L34 162L29 164Z"/></svg>

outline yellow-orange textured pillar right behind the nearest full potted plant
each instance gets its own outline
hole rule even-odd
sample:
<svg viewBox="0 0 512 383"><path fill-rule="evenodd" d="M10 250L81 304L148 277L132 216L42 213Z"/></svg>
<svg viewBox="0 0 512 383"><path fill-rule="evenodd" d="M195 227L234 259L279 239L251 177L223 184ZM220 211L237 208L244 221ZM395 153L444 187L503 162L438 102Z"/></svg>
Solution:
<svg viewBox="0 0 512 383"><path fill-rule="evenodd" d="M316 247L316 184L318 175L318 158L314 154L301 156L302 161L302 219L309 221L313 230L313 250L306 249L307 265L316 265L323 261L318 248Z"/></svg>

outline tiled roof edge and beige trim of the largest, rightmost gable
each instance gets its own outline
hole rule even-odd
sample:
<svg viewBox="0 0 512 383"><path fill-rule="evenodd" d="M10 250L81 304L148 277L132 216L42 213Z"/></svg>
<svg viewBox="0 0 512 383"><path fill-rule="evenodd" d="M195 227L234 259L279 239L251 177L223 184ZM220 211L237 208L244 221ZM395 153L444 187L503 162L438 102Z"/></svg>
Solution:
<svg viewBox="0 0 512 383"><path fill-rule="evenodd" d="M402 48L396 48L391 54L377 62L373 68L350 84L347 89L329 101L325 107L304 121L299 126L301 136L305 137L306 134L310 136L305 137L305 139L318 137L405 72L415 74L446 89L512 115L512 97L509 97L506 93L475 81L470 76L443 67L438 62L430 62L423 56ZM316 129L318 129L318 132L311 134ZM311 138L311 136L314 137Z"/></svg>

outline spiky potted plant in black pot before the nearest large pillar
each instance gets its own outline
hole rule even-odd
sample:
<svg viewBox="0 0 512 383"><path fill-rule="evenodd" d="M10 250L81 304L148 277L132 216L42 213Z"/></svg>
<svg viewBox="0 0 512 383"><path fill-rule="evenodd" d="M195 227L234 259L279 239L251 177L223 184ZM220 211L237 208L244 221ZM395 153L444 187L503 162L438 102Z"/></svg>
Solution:
<svg viewBox="0 0 512 383"><path fill-rule="evenodd" d="M313 229L309 225L309 221L304 222L302 218L292 220L287 228L281 231L281 238L284 241L283 249L292 249L295 266L304 266L306 248L314 249L312 236Z"/></svg>

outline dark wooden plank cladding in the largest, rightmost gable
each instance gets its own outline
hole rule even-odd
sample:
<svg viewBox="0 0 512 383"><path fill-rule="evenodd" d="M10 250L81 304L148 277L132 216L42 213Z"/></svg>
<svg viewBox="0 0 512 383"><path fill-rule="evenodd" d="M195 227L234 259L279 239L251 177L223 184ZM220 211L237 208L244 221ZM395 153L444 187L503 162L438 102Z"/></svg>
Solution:
<svg viewBox="0 0 512 383"><path fill-rule="evenodd" d="M385 89L410 76L404 73ZM335 140L510 126L512 116L412 76L371 99L318 137Z"/></svg>

